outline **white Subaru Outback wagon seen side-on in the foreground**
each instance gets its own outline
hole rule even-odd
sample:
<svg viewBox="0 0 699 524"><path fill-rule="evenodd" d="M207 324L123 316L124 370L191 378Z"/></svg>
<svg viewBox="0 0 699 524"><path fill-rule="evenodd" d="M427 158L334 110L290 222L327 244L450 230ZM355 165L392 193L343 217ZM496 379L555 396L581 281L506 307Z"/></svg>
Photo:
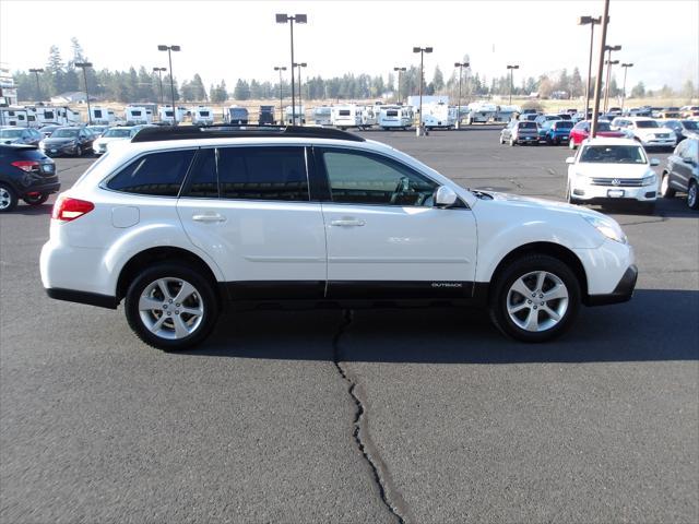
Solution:
<svg viewBox="0 0 699 524"><path fill-rule="evenodd" d="M321 128L146 128L56 202L50 297L117 308L179 349L224 305L445 301L489 309L525 342L579 305L629 300L633 251L613 219L470 191L416 159Z"/></svg>

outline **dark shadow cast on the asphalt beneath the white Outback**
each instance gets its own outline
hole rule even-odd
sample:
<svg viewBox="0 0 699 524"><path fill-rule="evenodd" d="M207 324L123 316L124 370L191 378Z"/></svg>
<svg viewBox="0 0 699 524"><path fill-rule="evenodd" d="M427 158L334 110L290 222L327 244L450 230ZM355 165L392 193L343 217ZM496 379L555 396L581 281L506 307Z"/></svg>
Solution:
<svg viewBox="0 0 699 524"><path fill-rule="evenodd" d="M369 362L512 364L699 360L699 291L639 289L630 302L582 308L571 331L546 344L503 337L483 311L355 310L339 359ZM248 311L222 317L194 356L333 360L340 310ZM319 333L328 340L308 344Z"/></svg>

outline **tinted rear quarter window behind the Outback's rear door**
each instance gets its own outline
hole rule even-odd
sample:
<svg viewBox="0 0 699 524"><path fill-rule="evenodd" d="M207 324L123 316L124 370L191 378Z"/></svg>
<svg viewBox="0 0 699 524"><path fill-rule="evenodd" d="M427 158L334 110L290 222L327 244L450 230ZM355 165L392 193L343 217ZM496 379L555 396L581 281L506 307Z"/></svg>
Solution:
<svg viewBox="0 0 699 524"><path fill-rule="evenodd" d="M193 156L193 150L141 156L117 172L107 188L125 193L177 196Z"/></svg>

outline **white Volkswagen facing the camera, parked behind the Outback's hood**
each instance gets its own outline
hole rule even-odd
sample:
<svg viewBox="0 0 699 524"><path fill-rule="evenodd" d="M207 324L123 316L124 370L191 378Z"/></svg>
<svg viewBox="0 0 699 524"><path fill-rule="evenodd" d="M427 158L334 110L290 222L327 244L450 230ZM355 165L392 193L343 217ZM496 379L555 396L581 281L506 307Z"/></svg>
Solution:
<svg viewBox="0 0 699 524"><path fill-rule="evenodd" d="M632 201L647 213L655 211L657 175L643 147L629 139L585 140L576 156L566 159L566 198L571 204Z"/></svg>

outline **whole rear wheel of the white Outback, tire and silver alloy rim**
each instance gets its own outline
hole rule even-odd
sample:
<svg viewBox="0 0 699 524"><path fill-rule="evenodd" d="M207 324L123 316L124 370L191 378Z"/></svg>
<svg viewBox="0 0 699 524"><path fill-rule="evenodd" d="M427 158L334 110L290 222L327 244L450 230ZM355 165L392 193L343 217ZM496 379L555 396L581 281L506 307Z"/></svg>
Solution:
<svg viewBox="0 0 699 524"><path fill-rule="evenodd" d="M218 308L212 284L199 272L161 263L133 279L126 296L126 315L144 343L179 350L209 336Z"/></svg>

